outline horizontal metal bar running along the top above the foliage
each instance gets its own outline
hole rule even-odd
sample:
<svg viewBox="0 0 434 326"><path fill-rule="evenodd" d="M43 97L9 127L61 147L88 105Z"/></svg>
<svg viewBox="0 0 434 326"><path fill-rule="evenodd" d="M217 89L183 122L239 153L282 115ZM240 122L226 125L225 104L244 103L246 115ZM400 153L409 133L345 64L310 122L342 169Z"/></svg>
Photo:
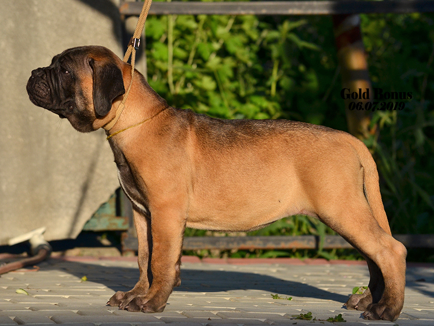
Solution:
<svg viewBox="0 0 434 326"><path fill-rule="evenodd" d="M138 16L142 2L124 2L120 12ZM361 13L434 12L434 1L249 1L249 2L153 2L150 15L341 15Z"/></svg>

